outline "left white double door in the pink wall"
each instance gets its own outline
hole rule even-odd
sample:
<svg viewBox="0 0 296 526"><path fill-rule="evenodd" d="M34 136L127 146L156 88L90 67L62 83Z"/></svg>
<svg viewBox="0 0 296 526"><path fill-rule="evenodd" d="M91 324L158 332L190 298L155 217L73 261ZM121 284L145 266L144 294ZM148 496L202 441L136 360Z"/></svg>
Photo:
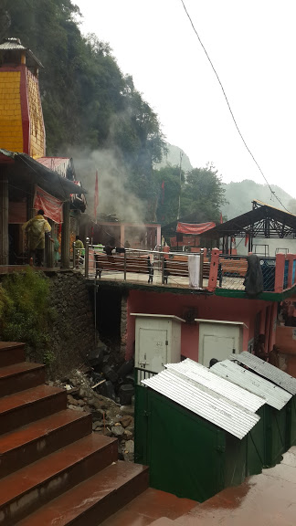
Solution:
<svg viewBox="0 0 296 526"><path fill-rule="evenodd" d="M165 314L135 316L135 358L138 369L160 373L165 363L181 360L181 324L185 320Z"/></svg>

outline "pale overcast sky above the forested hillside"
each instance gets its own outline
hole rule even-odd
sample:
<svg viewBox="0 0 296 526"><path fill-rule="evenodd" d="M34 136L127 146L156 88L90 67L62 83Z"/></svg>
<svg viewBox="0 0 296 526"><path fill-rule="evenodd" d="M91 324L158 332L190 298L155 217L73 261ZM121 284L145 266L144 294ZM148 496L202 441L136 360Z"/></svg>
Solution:
<svg viewBox="0 0 296 526"><path fill-rule="evenodd" d="M159 116L166 140L223 181L264 184L181 0L73 0L82 33L110 43ZM238 127L271 184L296 198L296 4L185 0Z"/></svg>

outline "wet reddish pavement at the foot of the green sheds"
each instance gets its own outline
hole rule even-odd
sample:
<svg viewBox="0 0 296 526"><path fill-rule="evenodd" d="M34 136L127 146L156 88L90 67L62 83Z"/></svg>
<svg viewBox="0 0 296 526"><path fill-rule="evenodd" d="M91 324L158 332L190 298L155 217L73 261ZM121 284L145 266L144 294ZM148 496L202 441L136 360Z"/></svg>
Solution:
<svg viewBox="0 0 296 526"><path fill-rule="evenodd" d="M296 447L274 468L203 504L148 489L103 526L295 526Z"/></svg>

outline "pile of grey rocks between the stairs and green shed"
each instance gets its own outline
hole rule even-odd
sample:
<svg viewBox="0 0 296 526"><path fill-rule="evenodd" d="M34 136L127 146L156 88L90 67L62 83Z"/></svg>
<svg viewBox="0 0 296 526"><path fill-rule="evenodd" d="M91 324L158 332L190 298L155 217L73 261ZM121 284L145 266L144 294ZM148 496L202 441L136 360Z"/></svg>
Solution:
<svg viewBox="0 0 296 526"><path fill-rule="evenodd" d="M118 438L119 458L133 462L133 406L117 404L111 398L98 393L100 385L105 381L100 381L102 384L95 386L91 373L83 372L83 369L86 371L88 368L82 366L71 371L67 378L48 384L67 389L69 409L90 413L93 431Z"/></svg>

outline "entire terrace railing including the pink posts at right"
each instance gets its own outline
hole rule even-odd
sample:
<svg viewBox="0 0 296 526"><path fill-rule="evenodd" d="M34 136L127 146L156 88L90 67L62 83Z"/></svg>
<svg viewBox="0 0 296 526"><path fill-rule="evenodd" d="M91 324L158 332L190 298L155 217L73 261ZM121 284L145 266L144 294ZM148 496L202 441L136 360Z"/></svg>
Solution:
<svg viewBox="0 0 296 526"><path fill-rule="evenodd" d="M214 248L209 258L198 254L159 250L117 249L111 255L103 247L86 244L74 247L74 268L88 279L117 280L167 288L245 290L247 256L220 254ZM194 258L194 259L190 259ZM281 293L296 286L296 255L279 253L275 258L259 257L264 292ZM193 273L188 270L193 262ZM193 276L195 282L193 283Z"/></svg>

